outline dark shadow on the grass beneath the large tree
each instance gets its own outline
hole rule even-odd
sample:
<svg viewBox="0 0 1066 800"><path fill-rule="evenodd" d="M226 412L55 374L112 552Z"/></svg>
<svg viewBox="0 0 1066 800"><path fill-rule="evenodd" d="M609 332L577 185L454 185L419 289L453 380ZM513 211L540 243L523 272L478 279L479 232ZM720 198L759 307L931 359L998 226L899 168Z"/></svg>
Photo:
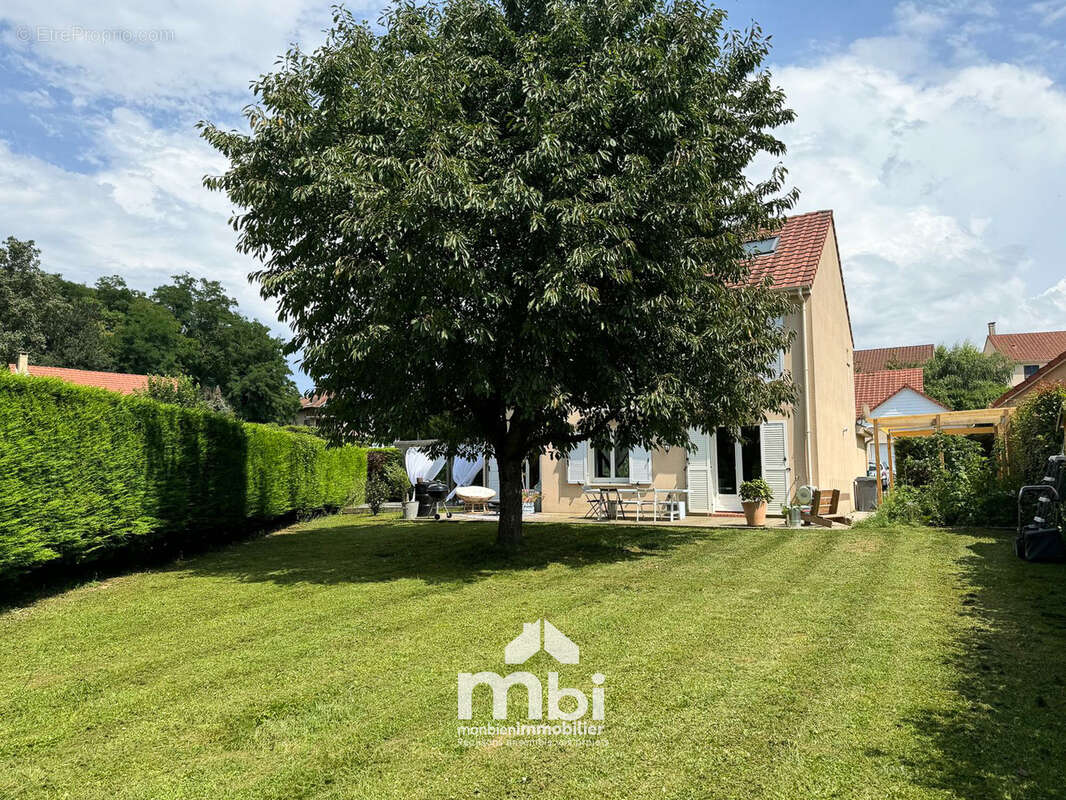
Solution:
<svg viewBox="0 0 1066 800"><path fill-rule="evenodd" d="M527 525L517 554L498 549L490 523L358 523L297 528L238 544L174 570L275 583L343 583L417 578L472 582L498 572L544 570L661 556L713 538L707 528ZM718 534L721 535L721 534Z"/></svg>

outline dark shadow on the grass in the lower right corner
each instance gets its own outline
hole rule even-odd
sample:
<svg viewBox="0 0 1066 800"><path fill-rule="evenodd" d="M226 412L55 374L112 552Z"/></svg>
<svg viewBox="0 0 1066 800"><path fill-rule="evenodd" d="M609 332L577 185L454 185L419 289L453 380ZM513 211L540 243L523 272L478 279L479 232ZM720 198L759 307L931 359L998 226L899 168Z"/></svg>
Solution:
<svg viewBox="0 0 1066 800"><path fill-rule="evenodd" d="M1014 533L969 547L952 687L965 707L912 722L930 737L919 781L960 798L1066 795L1066 564L1013 555Z"/></svg>

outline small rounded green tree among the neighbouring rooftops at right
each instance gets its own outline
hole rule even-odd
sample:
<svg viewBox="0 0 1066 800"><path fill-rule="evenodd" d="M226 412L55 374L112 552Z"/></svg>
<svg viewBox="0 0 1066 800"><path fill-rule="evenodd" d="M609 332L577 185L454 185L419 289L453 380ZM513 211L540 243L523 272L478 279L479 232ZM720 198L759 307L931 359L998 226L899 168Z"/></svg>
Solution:
<svg viewBox="0 0 1066 800"><path fill-rule="evenodd" d="M1011 387L1014 365L1002 353L985 354L970 342L938 345L922 366L925 394L952 411L987 409Z"/></svg>

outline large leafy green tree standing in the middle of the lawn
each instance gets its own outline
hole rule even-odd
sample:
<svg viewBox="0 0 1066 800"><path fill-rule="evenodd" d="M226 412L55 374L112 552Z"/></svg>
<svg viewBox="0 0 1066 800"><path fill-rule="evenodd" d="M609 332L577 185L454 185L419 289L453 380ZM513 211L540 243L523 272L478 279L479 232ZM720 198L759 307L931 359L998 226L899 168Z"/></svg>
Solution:
<svg viewBox="0 0 1066 800"><path fill-rule="evenodd" d="M753 182L793 114L758 29L689 0L401 3L376 33L261 77L249 133L203 124L240 246L336 432L497 458L498 542L521 462L591 439L689 446L792 397L788 300L743 242L791 206ZM552 449L554 448L554 449Z"/></svg>

